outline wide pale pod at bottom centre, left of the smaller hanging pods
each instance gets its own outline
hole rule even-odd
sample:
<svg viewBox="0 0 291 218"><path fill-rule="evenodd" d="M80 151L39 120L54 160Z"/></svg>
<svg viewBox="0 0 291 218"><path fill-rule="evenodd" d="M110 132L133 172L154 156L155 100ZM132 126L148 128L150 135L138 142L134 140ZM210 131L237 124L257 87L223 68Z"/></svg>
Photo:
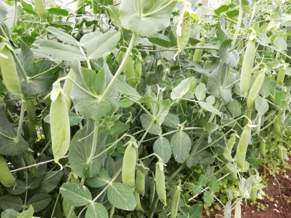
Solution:
<svg viewBox="0 0 291 218"><path fill-rule="evenodd" d="M135 185L136 148L129 144L124 152L122 163L122 182L134 191Z"/></svg>

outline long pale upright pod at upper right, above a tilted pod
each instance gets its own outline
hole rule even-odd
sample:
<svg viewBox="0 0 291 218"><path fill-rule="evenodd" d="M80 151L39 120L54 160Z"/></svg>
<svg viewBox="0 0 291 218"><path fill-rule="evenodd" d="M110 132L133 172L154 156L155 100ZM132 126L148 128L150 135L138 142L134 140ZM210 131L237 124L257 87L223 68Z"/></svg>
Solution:
<svg viewBox="0 0 291 218"><path fill-rule="evenodd" d="M251 80L251 73L256 53L255 41L248 41L242 61L241 94L246 96Z"/></svg>

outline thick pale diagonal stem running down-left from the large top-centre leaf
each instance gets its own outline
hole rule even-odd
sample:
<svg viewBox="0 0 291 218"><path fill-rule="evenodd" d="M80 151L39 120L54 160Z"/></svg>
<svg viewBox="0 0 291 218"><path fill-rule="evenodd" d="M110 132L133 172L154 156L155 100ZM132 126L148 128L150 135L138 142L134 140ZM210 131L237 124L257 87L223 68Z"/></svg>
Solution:
<svg viewBox="0 0 291 218"><path fill-rule="evenodd" d="M118 67L114 77L112 78L112 80L110 81L110 83L108 84L107 88L105 89L104 93L102 94L101 98L100 98L100 101L102 101L107 95L108 93L111 91L114 83L116 82L117 78L119 77L119 75L121 74L122 70L123 70L123 67L125 65L125 63L127 62L128 58L129 58L129 55L131 53L131 50L133 48L133 45L134 45L134 42L135 42L135 39L136 39L136 33L133 32L132 33L132 36L131 36L131 40L130 40L130 43L129 43L129 47L125 53L125 56L120 64L120 66Z"/></svg>

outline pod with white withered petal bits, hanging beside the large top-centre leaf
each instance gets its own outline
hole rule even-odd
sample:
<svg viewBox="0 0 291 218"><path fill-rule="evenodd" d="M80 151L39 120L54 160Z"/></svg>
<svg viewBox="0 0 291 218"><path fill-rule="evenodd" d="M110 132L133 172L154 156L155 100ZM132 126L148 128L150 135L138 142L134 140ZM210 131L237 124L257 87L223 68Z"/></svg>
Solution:
<svg viewBox="0 0 291 218"><path fill-rule="evenodd" d="M179 24L178 28L180 28L180 31L178 31L179 33L177 34L177 46L178 53L181 53L187 46L190 38L191 16L187 11L184 12L184 15L181 15Z"/></svg>

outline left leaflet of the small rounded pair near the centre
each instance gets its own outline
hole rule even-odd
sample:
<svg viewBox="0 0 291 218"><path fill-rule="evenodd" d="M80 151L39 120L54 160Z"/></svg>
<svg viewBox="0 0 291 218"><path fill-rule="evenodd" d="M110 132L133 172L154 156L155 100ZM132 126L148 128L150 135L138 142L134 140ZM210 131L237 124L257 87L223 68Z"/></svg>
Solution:
<svg viewBox="0 0 291 218"><path fill-rule="evenodd" d="M171 145L169 140L164 137L158 138L153 146L154 152L162 158L163 163L167 163L172 155Z"/></svg>

